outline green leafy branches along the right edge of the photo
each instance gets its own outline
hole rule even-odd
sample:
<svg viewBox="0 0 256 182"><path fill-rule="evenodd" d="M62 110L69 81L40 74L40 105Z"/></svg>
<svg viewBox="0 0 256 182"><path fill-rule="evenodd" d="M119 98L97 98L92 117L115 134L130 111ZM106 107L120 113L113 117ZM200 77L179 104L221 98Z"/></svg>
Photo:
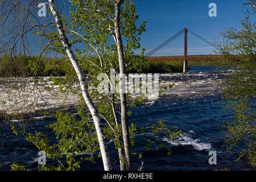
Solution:
<svg viewBox="0 0 256 182"><path fill-rule="evenodd" d="M256 166L255 152L255 23L250 22L246 16L241 22L243 28L236 30L229 28L222 31L223 43L218 44L220 54L225 61L222 68L232 70L224 75L222 97L226 101L226 110L233 112L233 121L225 122L226 152L232 150L240 143L246 148L241 150L239 159L246 156L251 166Z"/></svg>

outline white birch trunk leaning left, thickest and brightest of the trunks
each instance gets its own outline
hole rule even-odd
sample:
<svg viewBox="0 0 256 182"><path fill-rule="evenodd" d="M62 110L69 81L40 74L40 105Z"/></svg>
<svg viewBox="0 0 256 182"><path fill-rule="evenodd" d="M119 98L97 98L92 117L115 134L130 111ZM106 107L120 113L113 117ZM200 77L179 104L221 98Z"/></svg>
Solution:
<svg viewBox="0 0 256 182"><path fill-rule="evenodd" d="M103 133L102 127L101 127L98 111L97 111L96 107L94 106L94 104L90 98L89 92L88 92L88 84L86 82L85 75L82 72L79 63L77 62L77 59L72 52L71 46L70 46L67 36L64 32L63 23L60 18L60 14L58 13L58 11L55 8L54 1L48 0L48 4L49 4L51 12L55 18L56 26L57 26L57 30L59 31L59 34L60 34L61 42L63 43L65 51L68 54L69 60L71 61L73 67L75 68L75 71L79 78L80 86L81 86L81 90L82 90L82 96L84 97L86 105L88 106L90 113L92 114L95 129L97 132L98 142L100 144L100 150L101 150L102 161L104 164L104 169L105 169L105 171L110 171L110 170L112 170L112 167L111 167L111 163L110 163L108 147L106 146L106 141L104 138L104 133Z"/></svg>

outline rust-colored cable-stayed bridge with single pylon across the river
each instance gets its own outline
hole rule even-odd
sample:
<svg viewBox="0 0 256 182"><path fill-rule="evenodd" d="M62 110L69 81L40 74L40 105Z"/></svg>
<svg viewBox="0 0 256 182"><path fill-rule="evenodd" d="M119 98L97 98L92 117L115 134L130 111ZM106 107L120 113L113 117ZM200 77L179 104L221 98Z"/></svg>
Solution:
<svg viewBox="0 0 256 182"><path fill-rule="evenodd" d="M217 57L217 56L188 56L188 31L191 32L193 35L197 36L198 38L200 38L201 40L203 40L204 42L206 42L206 43L210 44L211 46L217 48L212 43L210 43L207 40L201 38L201 36L195 34L191 30L188 30L188 28L183 28L182 30L177 32L177 34L172 36L170 39L166 40L165 42L160 44L158 47L156 47L155 49L153 49L152 51L147 53L147 55L145 55L145 58L148 61L171 61L171 60L181 61L181 60L183 60L184 61L184 63L183 63L183 73L188 71L188 61L192 61L192 60L195 60L195 61L197 61L197 60L219 60L220 59L220 57ZM150 57L152 54L159 51L161 48L166 46L168 43L172 42L172 40L176 39L178 36L180 36L183 33L184 33L184 56Z"/></svg>

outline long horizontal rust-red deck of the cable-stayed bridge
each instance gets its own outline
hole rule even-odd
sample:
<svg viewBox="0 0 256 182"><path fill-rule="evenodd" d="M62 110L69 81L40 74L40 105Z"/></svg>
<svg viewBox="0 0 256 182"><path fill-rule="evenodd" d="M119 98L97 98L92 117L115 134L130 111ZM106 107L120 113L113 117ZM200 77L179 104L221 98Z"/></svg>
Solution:
<svg viewBox="0 0 256 182"><path fill-rule="evenodd" d="M201 61L201 60L220 60L218 56L174 56L174 57L145 57L148 61Z"/></svg>

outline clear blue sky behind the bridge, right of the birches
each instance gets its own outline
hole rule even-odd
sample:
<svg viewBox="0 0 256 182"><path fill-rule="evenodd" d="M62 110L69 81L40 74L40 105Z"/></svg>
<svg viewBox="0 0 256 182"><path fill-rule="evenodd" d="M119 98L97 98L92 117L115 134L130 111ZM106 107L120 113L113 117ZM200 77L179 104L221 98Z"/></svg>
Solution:
<svg viewBox="0 0 256 182"><path fill-rule="evenodd" d="M142 0L135 1L139 22L147 20L141 47L146 53L176 34L184 27L209 42L213 37L221 41L220 31L228 27L241 28L247 0ZM216 3L217 17L210 17L209 3ZM255 20L255 19L254 19ZM188 55L213 53L214 47L188 33ZM136 51L139 53L141 51ZM184 54L184 34L152 56Z"/></svg>

